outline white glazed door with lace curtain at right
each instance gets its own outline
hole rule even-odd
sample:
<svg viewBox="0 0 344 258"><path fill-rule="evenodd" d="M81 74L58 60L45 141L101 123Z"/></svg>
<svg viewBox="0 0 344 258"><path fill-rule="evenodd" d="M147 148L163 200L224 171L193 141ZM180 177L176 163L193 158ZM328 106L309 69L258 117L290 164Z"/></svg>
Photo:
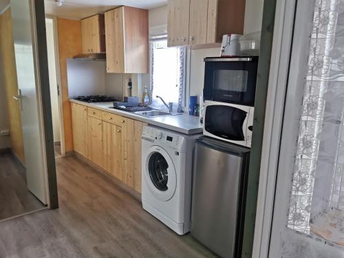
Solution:
<svg viewBox="0 0 344 258"><path fill-rule="evenodd" d="M344 1L297 1L269 257L344 257Z"/></svg>

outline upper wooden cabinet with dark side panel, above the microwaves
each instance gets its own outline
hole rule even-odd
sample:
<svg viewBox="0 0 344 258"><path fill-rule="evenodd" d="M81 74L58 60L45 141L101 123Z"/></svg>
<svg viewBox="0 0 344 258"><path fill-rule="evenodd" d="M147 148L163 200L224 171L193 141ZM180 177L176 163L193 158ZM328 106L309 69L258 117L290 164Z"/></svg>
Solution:
<svg viewBox="0 0 344 258"><path fill-rule="evenodd" d="M221 43L243 34L245 0L169 0L168 45Z"/></svg>

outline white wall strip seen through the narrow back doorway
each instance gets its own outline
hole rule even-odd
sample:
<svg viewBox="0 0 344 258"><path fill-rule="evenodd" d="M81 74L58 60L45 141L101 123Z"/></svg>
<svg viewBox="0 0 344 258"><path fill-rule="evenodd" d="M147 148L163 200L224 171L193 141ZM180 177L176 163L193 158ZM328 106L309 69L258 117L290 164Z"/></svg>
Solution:
<svg viewBox="0 0 344 258"><path fill-rule="evenodd" d="M50 99L52 105L52 129L54 133L54 142L60 142L61 121L58 108L54 24L52 19L45 19L45 28L47 32L47 63L49 68Z"/></svg>

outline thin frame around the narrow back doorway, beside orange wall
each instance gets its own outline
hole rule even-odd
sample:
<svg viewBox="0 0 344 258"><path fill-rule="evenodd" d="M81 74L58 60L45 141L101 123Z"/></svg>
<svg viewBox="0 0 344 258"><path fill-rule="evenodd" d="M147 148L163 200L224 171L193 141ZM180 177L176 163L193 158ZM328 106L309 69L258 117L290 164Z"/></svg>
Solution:
<svg viewBox="0 0 344 258"><path fill-rule="evenodd" d="M60 142L61 142L61 156L65 157L65 130L63 122L63 99L61 91L61 73L60 73L60 54L58 52L58 31L57 31L57 18L52 15L45 15L45 18L51 19L54 30L54 49L55 49L55 67L56 67L56 83L58 87L58 116L60 118Z"/></svg>

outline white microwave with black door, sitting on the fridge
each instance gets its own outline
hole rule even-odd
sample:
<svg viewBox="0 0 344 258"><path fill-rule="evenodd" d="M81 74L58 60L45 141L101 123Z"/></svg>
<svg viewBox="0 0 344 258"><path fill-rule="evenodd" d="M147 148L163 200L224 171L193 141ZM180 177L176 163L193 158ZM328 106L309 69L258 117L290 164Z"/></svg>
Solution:
<svg viewBox="0 0 344 258"><path fill-rule="evenodd" d="M206 100L203 134L250 148L254 111L250 106Z"/></svg>

